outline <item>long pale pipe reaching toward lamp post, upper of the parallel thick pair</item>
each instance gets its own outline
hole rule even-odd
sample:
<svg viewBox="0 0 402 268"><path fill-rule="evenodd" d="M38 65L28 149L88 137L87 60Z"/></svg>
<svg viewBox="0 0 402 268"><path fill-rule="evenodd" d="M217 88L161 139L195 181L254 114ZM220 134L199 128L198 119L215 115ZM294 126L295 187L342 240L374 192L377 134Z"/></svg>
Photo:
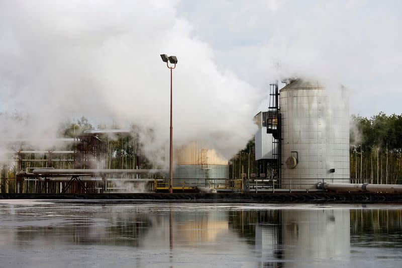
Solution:
<svg viewBox="0 0 402 268"><path fill-rule="evenodd" d="M163 169L34 169L32 173L38 175L103 175L103 174L150 174L163 173Z"/></svg>

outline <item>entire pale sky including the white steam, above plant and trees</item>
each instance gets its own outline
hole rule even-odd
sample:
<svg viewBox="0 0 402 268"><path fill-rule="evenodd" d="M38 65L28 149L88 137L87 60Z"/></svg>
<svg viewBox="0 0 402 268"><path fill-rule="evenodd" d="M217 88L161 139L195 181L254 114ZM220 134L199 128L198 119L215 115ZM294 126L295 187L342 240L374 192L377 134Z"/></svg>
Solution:
<svg viewBox="0 0 402 268"><path fill-rule="evenodd" d="M55 135L59 123L142 126L168 140L176 55L175 144L225 156L255 132L269 83L319 79L350 90L350 112L400 114L400 1L0 1L3 138ZM146 130L152 128L153 134ZM150 152L151 153L151 152Z"/></svg>

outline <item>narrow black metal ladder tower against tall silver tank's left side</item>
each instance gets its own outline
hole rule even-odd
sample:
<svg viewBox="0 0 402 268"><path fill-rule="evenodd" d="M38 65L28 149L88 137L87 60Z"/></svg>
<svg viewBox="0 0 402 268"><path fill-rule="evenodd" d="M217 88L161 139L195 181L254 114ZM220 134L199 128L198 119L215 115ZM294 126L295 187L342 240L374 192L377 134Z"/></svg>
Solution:
<svg viewBox="0 0 402 268"><path fill-rule="evenodd" d="M268 163L270 178L276 180L275 187L280 188L282 169L282 129L281 114L279 107L278 81L269 84L269 104L266 117L267 133L272 134L272 160Z"/></svg>

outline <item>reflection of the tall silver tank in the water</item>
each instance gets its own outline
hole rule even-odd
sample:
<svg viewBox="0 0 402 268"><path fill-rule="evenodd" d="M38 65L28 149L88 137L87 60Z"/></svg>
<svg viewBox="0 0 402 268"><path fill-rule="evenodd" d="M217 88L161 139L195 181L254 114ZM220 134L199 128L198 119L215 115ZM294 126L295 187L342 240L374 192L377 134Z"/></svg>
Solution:
<svg viewBox="0 0 402 268"><path fill-rule="evenodd" d="M349 260L348 210L288 210L281 216L284 259L295 266L312 259Z"/></svg>

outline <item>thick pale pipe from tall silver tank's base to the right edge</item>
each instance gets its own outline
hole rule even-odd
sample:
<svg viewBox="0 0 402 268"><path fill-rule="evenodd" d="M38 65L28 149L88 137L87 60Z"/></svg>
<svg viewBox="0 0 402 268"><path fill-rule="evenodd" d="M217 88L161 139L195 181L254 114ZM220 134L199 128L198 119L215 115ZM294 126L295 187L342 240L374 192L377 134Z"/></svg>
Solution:
<svg viewBox="0 0 402 268"><path fill-rule="evenodd" d="M402 193L402 185L393 184L332 184L318 183L317 189L335 192Z"/></svg>

